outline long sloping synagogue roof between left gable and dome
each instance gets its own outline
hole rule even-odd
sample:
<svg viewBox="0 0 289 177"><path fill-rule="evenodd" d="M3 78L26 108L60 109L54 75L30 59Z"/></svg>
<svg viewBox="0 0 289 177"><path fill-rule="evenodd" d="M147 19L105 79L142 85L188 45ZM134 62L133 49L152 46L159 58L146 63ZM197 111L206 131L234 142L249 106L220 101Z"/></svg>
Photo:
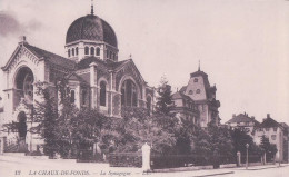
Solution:
<svg viewBox="0 0 289 177"><path fill-rule="evenodd" d="M76 66L74 61L67 59L64 57L61 57L59 55L56 55L56 53L52 53L50 51L47 51L47 50L40 49L38 47L31 46L27 42L24 42L23 46L29 51L31 51L33 55L36 55L38 58L43 58L44 60L47 60L51 63L61 66L61 67L67 68L67 69L73 69L74 66Z"/></svg>

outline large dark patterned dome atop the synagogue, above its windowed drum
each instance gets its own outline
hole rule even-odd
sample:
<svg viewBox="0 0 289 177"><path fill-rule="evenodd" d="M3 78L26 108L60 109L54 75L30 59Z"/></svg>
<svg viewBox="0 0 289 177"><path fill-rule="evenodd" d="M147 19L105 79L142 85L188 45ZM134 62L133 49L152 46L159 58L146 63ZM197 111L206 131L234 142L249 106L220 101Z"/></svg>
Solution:
<svg viewBox="0 0 289 177"><path fill-rule="evenodd" d="M72 22L67 31L67 45L77 40L104 41L118 47L113 29L101 18L88 14Z"/></svg>

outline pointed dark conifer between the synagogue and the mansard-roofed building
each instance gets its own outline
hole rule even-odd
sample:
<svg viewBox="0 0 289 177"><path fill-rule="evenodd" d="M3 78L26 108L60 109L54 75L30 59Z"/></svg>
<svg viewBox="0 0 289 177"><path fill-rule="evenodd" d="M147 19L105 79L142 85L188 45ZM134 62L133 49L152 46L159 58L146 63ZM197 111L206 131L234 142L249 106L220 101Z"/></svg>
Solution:
<svg viewBox="0 0 289 177"><path fill-rule="evenodd" d="M160 86L157 89L159 97L157 97L156 112L170 115L173 107L171 100L171 86L165 77L161 78Z"/></svg>

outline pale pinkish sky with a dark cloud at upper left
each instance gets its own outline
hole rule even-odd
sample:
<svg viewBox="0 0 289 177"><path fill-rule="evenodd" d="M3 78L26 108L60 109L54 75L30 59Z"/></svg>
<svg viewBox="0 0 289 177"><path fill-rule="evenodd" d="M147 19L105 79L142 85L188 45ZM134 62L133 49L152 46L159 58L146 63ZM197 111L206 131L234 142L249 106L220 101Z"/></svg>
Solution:
<svg viewBox="0 0 289 177"><path fill-rule="evenodd" d="M114 29L119 60L132 59L149 86L166 76L173 90L201 70L217 86L221 122L247 112L289 124L289 1L94 0ZM19 37L64 56L69 26L90 0L0 0L0 66ZM3 79L2 73L0 79ZM0 89L2 86L0 86Z"/></svg>

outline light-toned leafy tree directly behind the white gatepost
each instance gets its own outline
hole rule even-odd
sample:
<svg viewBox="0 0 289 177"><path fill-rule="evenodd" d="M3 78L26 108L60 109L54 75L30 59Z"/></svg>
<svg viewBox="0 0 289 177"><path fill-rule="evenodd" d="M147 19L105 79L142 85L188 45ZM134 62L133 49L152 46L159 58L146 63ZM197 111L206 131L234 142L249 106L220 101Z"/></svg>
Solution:
<svg viewBox="0 0 289 177"><path fill-rule="evenodd" d="M159 116L159 115L158 115ZM172 117L162 118L149 116L143 108L123 108L122 117L117 121L117 131L120 138L116 141L117 151L138 151L144 142L148 142L153 153L167 154L172 151L176 137L172 131ZM161 120L166 120L161 124ZM170 128L168 128L170 127Z"/></svg>

